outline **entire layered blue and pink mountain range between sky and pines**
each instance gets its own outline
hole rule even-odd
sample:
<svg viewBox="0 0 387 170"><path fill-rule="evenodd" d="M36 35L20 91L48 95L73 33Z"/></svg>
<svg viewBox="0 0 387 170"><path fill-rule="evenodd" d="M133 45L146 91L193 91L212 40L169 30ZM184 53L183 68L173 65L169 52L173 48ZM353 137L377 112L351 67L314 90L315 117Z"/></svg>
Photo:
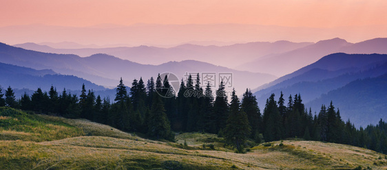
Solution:
<svg viewBox="0 0 387 170"><path fill-rule="evenodd" d="M306 108L317 113L322 104L333 101L343 119L351 119L357 126L387 119L387 95L384 94L387 91L387 55L383 54L387 53L387 38L357 43L333 38L316 43L278 41L169 48L56 49L34 43L16 46L0 44L3 88L55 85L59 89L62 86L80 89L81 84L87 84L88 88L104 90L102 86L115 87L120 77L130 86L134 78L142 77L146 81L158 73L174 73L179 80L185 80L189 73L200 73L200 76L212 73L216 75L216 88L221 81L219 74L227 73L232 75L232 86L228 90L236 88L241 94L246 88L253 89L261 110L271 93L279 97L282 91L286 99L289 95L300 94ZM186 60L191 58L207 62ZM161 61L156 59L168 62L149 64ZM228 62L233 68L248 71L218 66ZM238 63L242 64L238 66ZM262 73L255 73L257 71ZM275 75L282 77L277 79ZM20 80L25 83L15 83Z"/></svg>

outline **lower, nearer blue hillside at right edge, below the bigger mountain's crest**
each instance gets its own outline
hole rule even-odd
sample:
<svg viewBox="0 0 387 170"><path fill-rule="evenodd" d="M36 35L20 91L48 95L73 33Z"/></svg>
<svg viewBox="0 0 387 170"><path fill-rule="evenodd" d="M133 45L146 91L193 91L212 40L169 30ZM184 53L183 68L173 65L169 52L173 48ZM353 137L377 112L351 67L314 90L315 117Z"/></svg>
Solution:
<svg viewBox="0 0 387 170"><path fill-rule="evenodd" d="M333 101L340 109L344 120L350 119L357 127L380 119L387 120L387 74L378 77L367 77L331 90L319 98L306 103L306 107L319 108L322 104L328 106Z"/></svg>

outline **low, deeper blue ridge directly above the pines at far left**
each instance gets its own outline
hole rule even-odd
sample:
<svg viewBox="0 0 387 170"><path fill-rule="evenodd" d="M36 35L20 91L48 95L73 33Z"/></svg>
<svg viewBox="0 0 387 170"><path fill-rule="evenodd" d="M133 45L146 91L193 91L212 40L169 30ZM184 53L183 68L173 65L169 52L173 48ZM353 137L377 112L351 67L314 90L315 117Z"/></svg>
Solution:
<svg viewBox="0 0 387 170"><path fill-rule="evenodd" d="M51 86L54 86L61 95L63 89L72 95L81 95L82 84L85 84L86 90L92 89L94 94L101 97L114 99L115 89L108 89L94 84L83 78L74 75L60 75L52 70L35 70L23 66L4 64L0 62L0 88L5 93L6 88L10 86L17 99L24 93L32 95L37 88L48 92ZM129 89L129 88L128 88Z"/></svg>

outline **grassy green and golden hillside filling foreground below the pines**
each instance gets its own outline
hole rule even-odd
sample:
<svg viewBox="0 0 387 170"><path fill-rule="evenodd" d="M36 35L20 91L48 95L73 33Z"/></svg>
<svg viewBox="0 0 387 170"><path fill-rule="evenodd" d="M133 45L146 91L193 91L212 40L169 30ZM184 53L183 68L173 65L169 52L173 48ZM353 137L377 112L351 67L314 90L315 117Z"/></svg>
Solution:
<svg viewBox="0 0 387 170"><path fill-rule="evenodd" d="M278 141L236 154L214 134L176 138L151 141L83 119L0 108L0 169L387 169L386 155L350 145Z"/></svg>

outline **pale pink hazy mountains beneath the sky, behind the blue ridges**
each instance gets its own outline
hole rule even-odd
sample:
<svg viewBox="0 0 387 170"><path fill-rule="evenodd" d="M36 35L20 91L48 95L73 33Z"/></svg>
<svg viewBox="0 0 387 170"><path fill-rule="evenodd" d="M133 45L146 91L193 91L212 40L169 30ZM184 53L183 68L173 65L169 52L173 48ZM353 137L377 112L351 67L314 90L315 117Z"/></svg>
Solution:
<svg viewBox="0 0 387 170"><path fill-rule="evenodd" d="M82 57L106 53L142 64L162 64L169 61L199 60L241 71L269 73L278 77L297 71L331 53L387 53L387 38L374 38L351 43L341 38L319 42L247 42L226 46L193 44L161 48L138 47L54 49L33 43L15 45L48 53L72 53Z"/></svg>

